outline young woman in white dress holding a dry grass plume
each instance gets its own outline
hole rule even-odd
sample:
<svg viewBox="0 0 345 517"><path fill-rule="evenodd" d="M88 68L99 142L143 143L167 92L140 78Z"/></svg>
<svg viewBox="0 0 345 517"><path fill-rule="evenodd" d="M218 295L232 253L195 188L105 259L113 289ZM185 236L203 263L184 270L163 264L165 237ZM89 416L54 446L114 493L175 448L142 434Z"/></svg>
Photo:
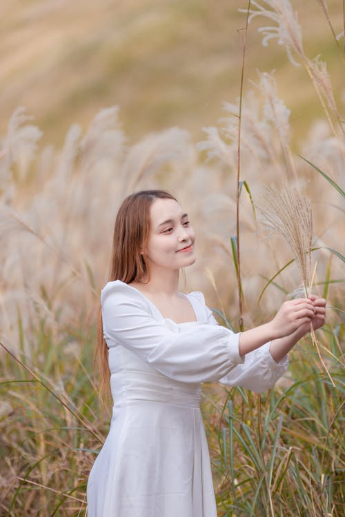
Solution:
<svg viewBox="0 0 345 517"><path fill-rule="evenodd" d="M324 324L325 301L310 296L239 334L218 325L201 292L178 292L194 243L168 192L144 190L122 203L97 351L114 405L88 478L88 517L216 517L201 383L263 392L311 324Z"/></svg>

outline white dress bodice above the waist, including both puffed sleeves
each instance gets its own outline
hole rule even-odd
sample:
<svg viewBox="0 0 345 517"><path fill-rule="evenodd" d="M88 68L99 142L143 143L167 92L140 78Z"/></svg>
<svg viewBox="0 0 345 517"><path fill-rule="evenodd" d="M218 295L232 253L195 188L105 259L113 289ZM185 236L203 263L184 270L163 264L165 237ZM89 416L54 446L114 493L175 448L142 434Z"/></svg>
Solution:
<svg viewBox="0 0 345 517"><path fill-rule="evenodd" d="M196 404L200 384L208 381L263 392L286 370L287 356L275 363L270 342L240 356L240 333L218 325L201 292L184 296L196 321L175 323L135 287L116 280L103 288L103 335L115 403L185 396L187 405Z"/></svg>

